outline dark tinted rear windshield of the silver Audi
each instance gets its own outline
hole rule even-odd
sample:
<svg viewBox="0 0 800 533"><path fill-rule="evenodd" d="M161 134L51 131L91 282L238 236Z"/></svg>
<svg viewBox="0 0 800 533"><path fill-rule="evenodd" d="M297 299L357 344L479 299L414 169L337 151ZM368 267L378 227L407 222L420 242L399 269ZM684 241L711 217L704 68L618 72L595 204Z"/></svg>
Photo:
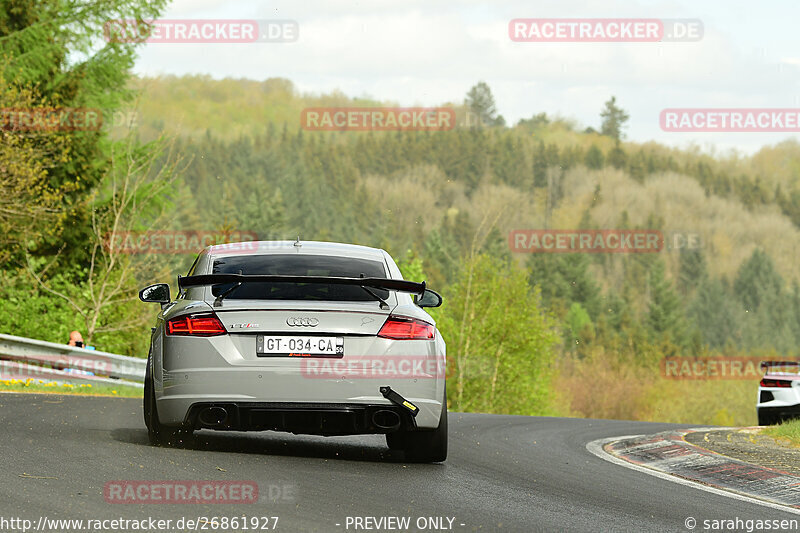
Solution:
<svg viewBox="0 0 800 533"><path fill-rule="evenodd" d="M358 278L385 278L386 268L380 261L325 255L247 255L221 257L214 260L213 274L279 275L279 276L333 276ZM211 287L216 297L235 284ZM389 291L370 289L381 298ZM234 289L225 299L239 300L375 300L367 291L353 285L324 283L245 283Z"/></svg>

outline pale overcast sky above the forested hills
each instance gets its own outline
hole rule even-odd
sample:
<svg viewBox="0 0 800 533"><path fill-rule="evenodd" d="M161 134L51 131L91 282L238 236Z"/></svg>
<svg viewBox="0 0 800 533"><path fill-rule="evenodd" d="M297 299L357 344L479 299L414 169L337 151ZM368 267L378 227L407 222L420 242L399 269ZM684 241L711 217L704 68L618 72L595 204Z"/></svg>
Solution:
<svg viewBox="0 0 800 533"><path fill-rule="evenodd" d="M292 19L293 43L146 44L142 75L284 77L302 92L340 89L400 105L460 102L479 80L510 124L539 112L599 126L615 95L626 138L752 153L785 133L669 133L664 108L800 108L800 4L741 0L384 1L175 0L165 19ZM680 43L519 43L514 18L693 18Z"/></svg>

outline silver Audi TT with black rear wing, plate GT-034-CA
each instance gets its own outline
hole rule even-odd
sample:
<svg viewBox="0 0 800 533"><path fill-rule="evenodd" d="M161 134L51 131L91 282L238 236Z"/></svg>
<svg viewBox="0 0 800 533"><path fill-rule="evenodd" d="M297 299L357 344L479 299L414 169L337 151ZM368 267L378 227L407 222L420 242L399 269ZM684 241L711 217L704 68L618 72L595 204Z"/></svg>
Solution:
<svg viewBox="0 0 800 533"><path fill-rule="evenodd" d="M153 444L198 429L385 434L410 461L447 457L445 343L383 250L326 242L209 246L150 342L144 418Z"/></svg>

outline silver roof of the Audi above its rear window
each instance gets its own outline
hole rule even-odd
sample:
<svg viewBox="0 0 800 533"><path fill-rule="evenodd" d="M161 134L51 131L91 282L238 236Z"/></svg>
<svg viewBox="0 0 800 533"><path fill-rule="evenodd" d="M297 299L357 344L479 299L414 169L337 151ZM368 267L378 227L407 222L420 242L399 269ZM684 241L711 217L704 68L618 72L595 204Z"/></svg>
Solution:
<svg viewBox="0 0 800 533"><path fill-rule="evenodd" d="M213 257L235 255L303 254L354 257L383 261L385 252L380 248L370 248L358 244L322 241L245 241L239 243L215 244L204 251Z"/></svg>

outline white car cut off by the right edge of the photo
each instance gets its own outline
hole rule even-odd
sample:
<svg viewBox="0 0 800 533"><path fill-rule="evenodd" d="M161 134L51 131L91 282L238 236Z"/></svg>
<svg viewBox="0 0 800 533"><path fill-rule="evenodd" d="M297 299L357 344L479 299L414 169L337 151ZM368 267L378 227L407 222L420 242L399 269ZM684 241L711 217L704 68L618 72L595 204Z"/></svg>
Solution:
<svg viewBox="0 0 800 533"><path fill-rule="evenodd" d="M766 373L758 386L758 425L800 418L800 363L762 361L761 368Z"/></svg>

